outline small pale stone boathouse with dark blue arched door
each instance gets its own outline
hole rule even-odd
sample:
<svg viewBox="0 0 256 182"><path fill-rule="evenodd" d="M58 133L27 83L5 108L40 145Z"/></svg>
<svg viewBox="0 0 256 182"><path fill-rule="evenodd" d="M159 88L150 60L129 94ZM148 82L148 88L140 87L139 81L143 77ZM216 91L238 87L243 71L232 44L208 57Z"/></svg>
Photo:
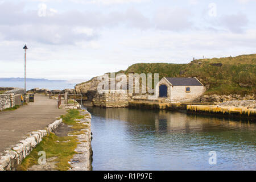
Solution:
<svg viewBox="0 0 256 182"><path fill-rule="evenodd" d="M196 78L166 78L158 82L155 93L158 98L171 102L192 101L202 96L204 85Z"/></svg>

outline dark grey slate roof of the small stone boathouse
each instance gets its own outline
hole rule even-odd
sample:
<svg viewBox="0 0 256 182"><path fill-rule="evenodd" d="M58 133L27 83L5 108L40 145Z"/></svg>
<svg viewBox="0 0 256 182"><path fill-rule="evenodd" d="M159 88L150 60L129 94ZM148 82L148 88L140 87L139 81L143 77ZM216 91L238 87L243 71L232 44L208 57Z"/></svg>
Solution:
<svg viewBox="0 0 256 182"><path fill-rule="evenodd" d="M174 86L204 86L196 78L166 78Z"/></svg>

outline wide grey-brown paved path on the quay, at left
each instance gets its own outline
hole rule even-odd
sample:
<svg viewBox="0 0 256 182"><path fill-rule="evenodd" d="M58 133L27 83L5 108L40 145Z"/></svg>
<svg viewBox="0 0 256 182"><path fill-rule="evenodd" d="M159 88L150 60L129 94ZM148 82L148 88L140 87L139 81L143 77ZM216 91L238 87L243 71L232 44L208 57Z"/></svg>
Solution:
<svg viewBox="0 0 256 182"><path fill-rule="evenodd" d="M35 102L14 111L0 112L0 152L15 146L29 132L44 129L65 113L65 109L57 108L57 100L40 94L35 94Z"/></svg>

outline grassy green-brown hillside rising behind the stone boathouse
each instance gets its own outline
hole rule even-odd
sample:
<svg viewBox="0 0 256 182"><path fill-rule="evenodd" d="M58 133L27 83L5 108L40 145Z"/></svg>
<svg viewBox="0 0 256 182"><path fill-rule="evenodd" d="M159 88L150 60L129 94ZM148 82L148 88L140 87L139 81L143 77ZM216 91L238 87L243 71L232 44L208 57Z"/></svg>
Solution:
<svg viewBox="0 0 256 182"><path fill-rule="evenodd" d="M197 77L207 87L205 94L256 94L256 54L193 60L188 64L138 63L117 73L159 73L159 80ZM82 84L89 82L92 80Z"/></svg>

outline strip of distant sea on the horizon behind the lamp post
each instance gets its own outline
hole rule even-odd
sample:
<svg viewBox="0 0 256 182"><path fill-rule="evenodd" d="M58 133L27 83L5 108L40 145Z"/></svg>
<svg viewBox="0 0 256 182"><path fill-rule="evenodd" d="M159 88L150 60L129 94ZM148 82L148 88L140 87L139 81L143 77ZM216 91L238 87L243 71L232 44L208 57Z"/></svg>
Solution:
<svg viewBox="0 0 256 182"><path fill-rule="evenodd" d="M67 82L26 82L27 90L34 88L48 89L48 90L64 90L64 89L73 89L76 84L69 84ZM0 82L0 87L18 87L24 88L24 82Z"/></svg>

